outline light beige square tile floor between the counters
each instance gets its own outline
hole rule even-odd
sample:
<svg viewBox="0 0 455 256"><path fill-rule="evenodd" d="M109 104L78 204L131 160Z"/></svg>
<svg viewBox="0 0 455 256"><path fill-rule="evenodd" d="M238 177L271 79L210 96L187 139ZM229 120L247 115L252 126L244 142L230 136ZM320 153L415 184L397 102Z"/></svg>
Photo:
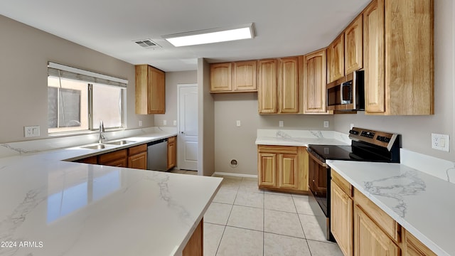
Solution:
<svg viewBox="0 0 455 256"><path fill-rule="evenodd" d="M342 255L304 195L262 191L257 178L223 177L204 215L204 255Z"/></svg>

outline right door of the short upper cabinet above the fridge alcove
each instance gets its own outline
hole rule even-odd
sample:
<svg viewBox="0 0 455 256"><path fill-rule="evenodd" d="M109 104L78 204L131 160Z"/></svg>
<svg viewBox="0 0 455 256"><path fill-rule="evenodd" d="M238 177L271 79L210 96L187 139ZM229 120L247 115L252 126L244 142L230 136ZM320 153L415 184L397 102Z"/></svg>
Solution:
<svg viewBox="0 0 455 256"><path fill-rule="evenodd" d="M256 60L238 61L234 63L234 90L257 91Z"/></svg>

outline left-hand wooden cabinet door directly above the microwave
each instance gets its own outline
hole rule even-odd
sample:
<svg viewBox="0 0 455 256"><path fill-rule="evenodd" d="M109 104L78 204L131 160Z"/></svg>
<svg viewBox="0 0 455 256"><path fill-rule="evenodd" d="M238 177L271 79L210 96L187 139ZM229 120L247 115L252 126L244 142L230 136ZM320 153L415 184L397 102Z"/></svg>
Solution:
<svg viewBox="0 0 455 256"><path fill-rule="evenodd" d="M344 76L344 34L342 33L327 48L327 82Z"/></svg>

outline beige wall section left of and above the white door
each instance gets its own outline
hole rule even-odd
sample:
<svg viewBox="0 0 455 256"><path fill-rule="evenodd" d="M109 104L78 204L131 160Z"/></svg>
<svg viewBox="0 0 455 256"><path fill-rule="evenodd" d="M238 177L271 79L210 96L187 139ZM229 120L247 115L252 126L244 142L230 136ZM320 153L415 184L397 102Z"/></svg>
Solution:
<svg viewBox="0 0 455 256"><path fill-rule="evenodd" d="M177 85L196 84L198 72L196 70L181 72L166 72L166 114L155 114L155 125L177 127L173 120L177 120ZM164 125L166 120L166 125Z"/></svg>

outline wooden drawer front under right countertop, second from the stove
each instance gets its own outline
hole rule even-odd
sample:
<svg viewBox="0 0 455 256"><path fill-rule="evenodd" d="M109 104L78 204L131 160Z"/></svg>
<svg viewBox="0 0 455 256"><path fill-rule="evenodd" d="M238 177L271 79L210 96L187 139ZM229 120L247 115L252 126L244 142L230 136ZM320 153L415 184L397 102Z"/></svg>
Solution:
<svg viewBox="0 0 455 256"><path fill-rule="evenodd" d="M382 230L390 235L396 242L400 242L400 224L392 219L385 211L381 210L378 206L370 201L363 193L360 193L354 188L354 201L355 205L362 208L362 210L370 216L372 220L377 223Z"/></svg>

